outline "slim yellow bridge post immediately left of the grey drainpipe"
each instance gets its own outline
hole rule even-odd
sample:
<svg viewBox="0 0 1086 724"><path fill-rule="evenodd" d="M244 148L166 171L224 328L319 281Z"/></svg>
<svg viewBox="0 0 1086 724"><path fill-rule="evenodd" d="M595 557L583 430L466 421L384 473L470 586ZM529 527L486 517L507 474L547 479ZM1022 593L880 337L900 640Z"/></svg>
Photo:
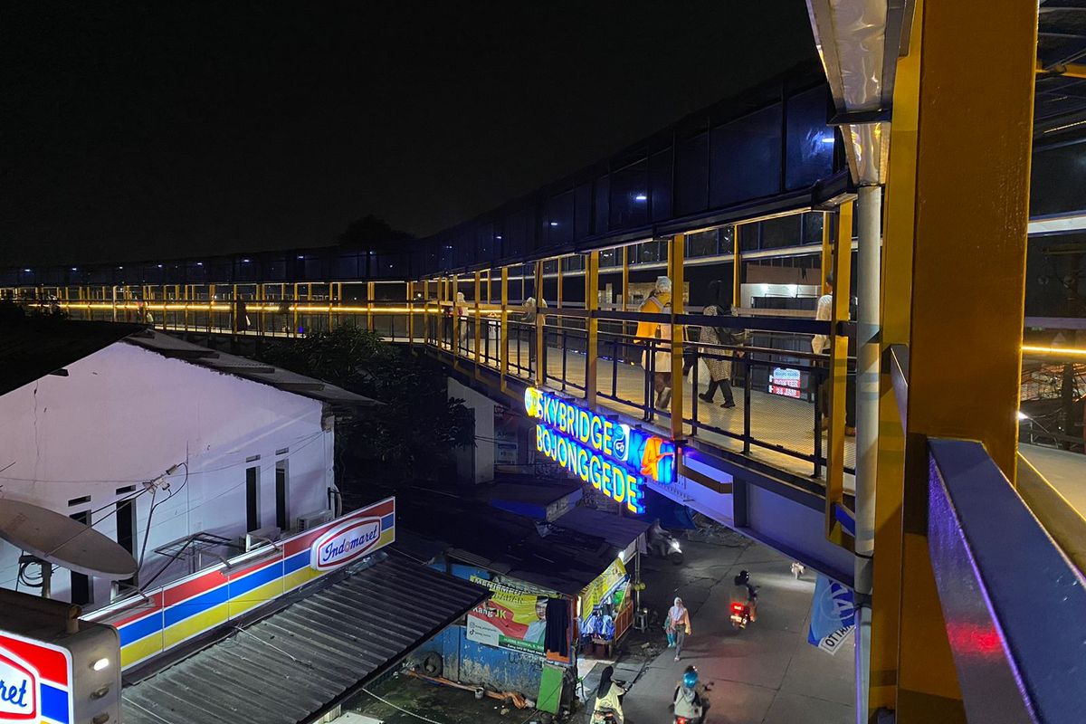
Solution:
<svg viewBox="0 0 1086 724"><path fill-rule="evenodd" d="M851 539L837 521L836 509L845 505L845 399L848 384L848 336L841 323L848 321L853 278L853 202L837 207L837 240L833 253L833 320L830 330L830 434L826 443L825 534L830 541L851 547ZM817 430L815 434L822 434Z"/></svg>

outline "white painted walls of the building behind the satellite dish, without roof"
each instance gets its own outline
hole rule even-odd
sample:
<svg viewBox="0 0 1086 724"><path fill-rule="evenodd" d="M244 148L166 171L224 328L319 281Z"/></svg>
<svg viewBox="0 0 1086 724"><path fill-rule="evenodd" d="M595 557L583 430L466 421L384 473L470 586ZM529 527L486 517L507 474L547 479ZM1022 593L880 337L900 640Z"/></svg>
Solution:
<svg viewBox="0 0 1086 724"><path fill-rule="evenodd" d="M116 539L116 491L142 487L168 468L188 462L159 493L141 579L164 559L151 552L206 531L243 536L245 469L258 466L261 524L274 525L276 461L289 459L288 512L328 507L334 487L333 437L323 404L123 342L70 365L67 377L47 376L0 396L0 505L23 500L66 516L96 512L92 524ZM277 450L287 449L287 453ZM247 459L260 456L256 461ZM90 496L90 500L68 505ZM136 499L139 537L148 530L151 493ZM227 551L219 551L227 552ZM20 550L0 542L0 587L15 587ZM228 555L228 554L227 554ZM139 558L139 551L136 554ZM204 564L207 564L205 562ZM155 584L188 572L174 566ZM68 600L70 574L53 574L53 596ZM94 581L93 602L109 602L110 583Z"/></svg>

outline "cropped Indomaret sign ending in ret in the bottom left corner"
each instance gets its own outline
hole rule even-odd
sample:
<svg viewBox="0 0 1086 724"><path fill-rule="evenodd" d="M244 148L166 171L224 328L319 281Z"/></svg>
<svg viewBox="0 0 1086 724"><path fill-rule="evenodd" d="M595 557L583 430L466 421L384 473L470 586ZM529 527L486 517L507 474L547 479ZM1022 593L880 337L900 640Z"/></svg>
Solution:
<svg viewBox="0 0 1086 724"><path fill-rule="evenodd" d="M71 682L65 649L0 632L0 722L73 722Z"/></svg>

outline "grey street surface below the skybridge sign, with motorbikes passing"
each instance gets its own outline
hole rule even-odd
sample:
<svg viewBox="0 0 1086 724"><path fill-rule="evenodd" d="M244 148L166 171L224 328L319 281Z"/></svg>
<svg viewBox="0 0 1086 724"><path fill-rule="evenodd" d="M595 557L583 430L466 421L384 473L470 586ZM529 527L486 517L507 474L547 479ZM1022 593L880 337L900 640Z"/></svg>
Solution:
<svg viewBox="0 0 1086 724"><path fill-rule="evenodd" d="M647 662L626 697L623 710L632 724L670 723L668 704L683 670L694 664L702 681L714 682L709 724L851 724L855 721L853 646L836 656L807 643L811 571L797 581L792 561L760 544L725 538L727 545L685 542L686 560L672 567L647 558L643 604L662 611L674 595L691 611L693 635L682 660L664 649ZM728 619L733 576L750 572L760 586L758 621L734 631ZM648 632L662 639L662 628ZM627 647L635 656L639 638ZM598 677L599 665L592 678ZM588 682L586 682L588 684Z"/></svg>

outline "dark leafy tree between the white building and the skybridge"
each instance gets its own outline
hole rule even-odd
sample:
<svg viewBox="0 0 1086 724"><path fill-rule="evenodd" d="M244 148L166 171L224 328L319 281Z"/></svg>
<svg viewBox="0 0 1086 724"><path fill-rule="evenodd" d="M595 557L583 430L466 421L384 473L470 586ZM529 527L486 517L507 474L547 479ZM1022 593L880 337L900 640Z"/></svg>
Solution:
<svg viewBox="0 0 1086 724"><path fill-rule="evenodd" d="M456 447L475 444L471 410L464 401L449 398L441 367L376 332L355 327L313 332L275 343L262 358L384 403L361 412L341 433L352 457L400 463L414 475L431 477Z"/></svg>

